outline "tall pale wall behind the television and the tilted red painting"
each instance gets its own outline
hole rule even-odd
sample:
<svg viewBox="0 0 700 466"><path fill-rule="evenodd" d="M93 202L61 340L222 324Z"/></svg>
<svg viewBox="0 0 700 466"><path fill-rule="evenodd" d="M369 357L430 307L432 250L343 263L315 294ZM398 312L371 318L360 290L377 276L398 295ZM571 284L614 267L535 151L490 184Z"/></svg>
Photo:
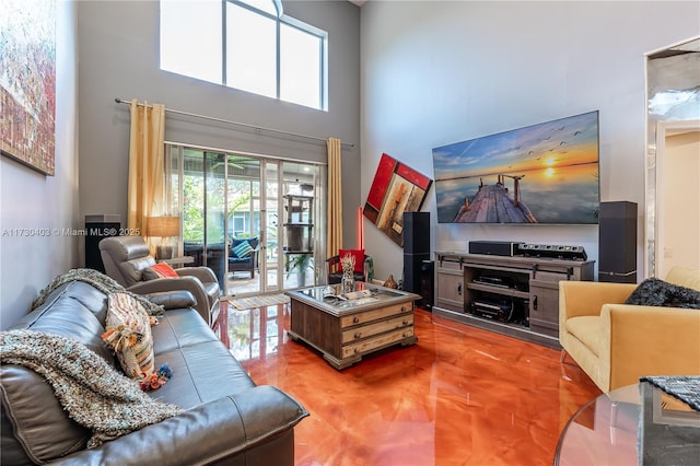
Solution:
<svg viewBox="0 0 700 466"><path fill-rule="evenodd" d="M433 177L432 149L590 110L600 117L600 199L640 206L643 264L644 54L700 31L698 2L371 1L361 10L362 186L383 152ZM585 247L596 225L436 224L431 249L469 240ZM401 249L365 220L377 278ZM597 269L597 268L596 268Z"/></svg>

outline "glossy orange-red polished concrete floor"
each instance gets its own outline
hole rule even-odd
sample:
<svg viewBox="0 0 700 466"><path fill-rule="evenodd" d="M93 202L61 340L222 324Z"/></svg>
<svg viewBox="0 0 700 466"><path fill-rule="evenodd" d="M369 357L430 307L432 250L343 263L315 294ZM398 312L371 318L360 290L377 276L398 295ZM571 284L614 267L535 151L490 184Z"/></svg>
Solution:
<svg viewBox="0 0 700 466"><path fill-rule="evenodd" d="M569 418L600 394L559 351L416 313L418 343L336 371L292 341L289 305L228 313L222 337L257 384L311 412L298 465L551 465ZM228 340L228 341L226 341Z"/></svg>

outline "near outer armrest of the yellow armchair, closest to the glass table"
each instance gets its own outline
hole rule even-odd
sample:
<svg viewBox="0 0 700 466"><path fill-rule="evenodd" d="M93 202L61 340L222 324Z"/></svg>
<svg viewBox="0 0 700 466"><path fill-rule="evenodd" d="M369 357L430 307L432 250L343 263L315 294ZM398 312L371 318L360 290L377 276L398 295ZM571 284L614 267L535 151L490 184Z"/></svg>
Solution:
<svg viewBox="0 0 700 466"><path fill-rule="evenodd" d="M610 388L645 375L700 375L700 312L606 304L600 310L600 364Z"/></svg>

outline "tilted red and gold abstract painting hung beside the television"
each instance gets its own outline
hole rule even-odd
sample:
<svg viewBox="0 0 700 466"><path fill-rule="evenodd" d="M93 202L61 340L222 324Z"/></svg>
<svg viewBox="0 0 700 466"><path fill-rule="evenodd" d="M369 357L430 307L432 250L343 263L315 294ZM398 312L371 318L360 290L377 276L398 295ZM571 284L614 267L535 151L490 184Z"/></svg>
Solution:
<svg viewBox="0 0 700 466"><path fill-rule="evenodd" d="M382 154L364 205L364 217L404 246L404 212L420 211L432 179Z"/></svg>

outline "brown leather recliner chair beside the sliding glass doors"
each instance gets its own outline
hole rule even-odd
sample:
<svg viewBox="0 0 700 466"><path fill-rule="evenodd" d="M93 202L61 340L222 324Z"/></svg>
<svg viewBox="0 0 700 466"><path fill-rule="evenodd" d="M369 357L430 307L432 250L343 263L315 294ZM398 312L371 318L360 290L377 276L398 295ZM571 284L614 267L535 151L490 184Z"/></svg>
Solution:
<svg viewBox="0 0 700 466"><path fill-rule="evenodd" d="M149 246L141 236L109 236L100 242L100 254L107 276L137 294L186 290L197 300L194 306L210 327L220 311L221 288L209 267L175 269L178 278L144 280L143 271L155 265Z"/></svg>

